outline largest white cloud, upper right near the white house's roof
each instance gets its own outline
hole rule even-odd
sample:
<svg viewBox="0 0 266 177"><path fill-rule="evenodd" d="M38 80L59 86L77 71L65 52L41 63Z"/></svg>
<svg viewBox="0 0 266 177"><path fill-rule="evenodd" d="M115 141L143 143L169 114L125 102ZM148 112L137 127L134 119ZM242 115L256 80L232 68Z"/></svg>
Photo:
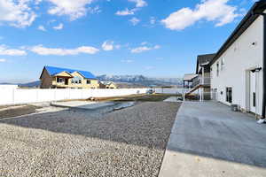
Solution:
<svg viewBox="0 0 266 177"><path fill-rule="evenodd" d="M177 12L173 12L167 19L163 19L161 22L171 30L183 30L202 19L215 21L216 27L223 26L231 23L239 16L236 13L237 8L227 4L228 1L202 0L201 4L197 4L194 10L183 8Z"/></svg>

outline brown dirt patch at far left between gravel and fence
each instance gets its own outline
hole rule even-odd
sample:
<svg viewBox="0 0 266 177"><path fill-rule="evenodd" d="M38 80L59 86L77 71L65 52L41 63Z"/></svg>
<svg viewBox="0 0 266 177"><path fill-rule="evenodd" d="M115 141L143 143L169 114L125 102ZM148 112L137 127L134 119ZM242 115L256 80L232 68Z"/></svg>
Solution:
<svg viewBox="0 0 266 177"><path fill-rule="evenodd" d="M12 106L10 109L9 106L1 106L0 108L2 109L0 110L0 119L3 119L34 113L36 109L40 107L34 105L20 105L18 107Z"/></svg>

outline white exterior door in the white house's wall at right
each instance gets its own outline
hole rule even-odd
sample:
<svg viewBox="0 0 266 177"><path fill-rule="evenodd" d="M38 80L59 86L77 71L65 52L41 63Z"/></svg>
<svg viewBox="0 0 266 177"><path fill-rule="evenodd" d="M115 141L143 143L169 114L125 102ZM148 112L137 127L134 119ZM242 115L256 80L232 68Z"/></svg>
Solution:
<svg viewBox="0 0 266 177"><path fill-rule="evenodd" d="M256 73L250 72L250 112L256 113Z"/></svg>

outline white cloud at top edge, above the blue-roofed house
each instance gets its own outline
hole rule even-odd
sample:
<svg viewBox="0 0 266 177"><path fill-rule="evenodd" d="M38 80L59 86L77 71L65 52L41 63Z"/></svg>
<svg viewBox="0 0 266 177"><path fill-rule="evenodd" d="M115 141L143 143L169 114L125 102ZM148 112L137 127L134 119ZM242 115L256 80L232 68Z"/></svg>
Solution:
<svg viewBox="0 0 266 177"><path fill-rule="evenodd" d="M85 16L90 8L87 8L88 4L91 4L94 0L49 0L54 6L49 9L49 13L52 15L68 15L71 20L81 18Z"/></svg>

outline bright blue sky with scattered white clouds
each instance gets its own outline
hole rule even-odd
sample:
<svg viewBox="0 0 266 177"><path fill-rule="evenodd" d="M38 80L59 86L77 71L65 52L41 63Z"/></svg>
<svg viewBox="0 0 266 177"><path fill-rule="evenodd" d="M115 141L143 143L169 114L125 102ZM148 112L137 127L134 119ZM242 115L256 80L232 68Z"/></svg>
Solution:
<svg viewBox="0 0 266 177"><path fill-rule="evenodd" d="M254 0L1 0L0 81L44 65L96 75L182 77L214 53Z"/></svg>

